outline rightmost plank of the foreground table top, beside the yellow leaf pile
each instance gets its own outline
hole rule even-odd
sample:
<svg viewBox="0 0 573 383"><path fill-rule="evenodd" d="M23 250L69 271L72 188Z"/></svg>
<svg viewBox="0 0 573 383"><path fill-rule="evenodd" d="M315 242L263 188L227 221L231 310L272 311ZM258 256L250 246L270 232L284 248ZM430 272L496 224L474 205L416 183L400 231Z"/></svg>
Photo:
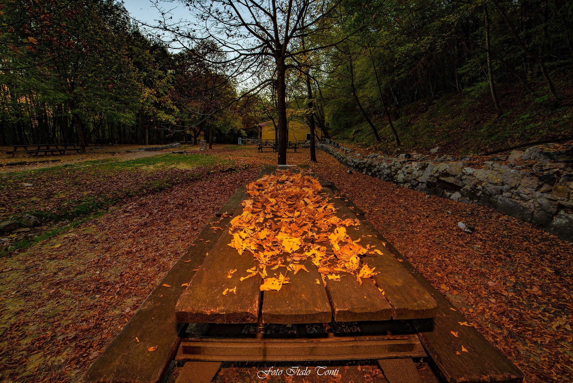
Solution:
<svg viewBox="0 0 573 383"><path fill-rule="evenodd" d="M332 201L340 218L354 215L339 198L333 198ZM370 245L382 252L382 255L364 256L362 262L367 263L368 267L375 267L379 272L373 278L378 287L384 291L384 297L390 302L393 310L392 318L431 318L434 315L437 304L429 292L402 267L367 226L362 224L350 226L347 233L353 240L360 238L363 247Z"/></svg>

